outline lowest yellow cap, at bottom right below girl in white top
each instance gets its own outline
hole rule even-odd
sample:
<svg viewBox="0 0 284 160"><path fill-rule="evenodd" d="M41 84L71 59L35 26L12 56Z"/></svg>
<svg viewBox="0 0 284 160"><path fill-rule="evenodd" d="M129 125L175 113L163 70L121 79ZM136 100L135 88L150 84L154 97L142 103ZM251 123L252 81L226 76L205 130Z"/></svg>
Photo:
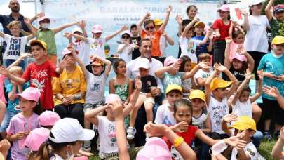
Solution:
<svg viewBox="0 0 284 160"><path fill-rule="evenodd" d="M257 124L255 124L255 120L253 120L249 116L239 116L238 121L236 121L235 124L229 126L229 128L236 128L241 131L246 129L257 131Z"/></svg>

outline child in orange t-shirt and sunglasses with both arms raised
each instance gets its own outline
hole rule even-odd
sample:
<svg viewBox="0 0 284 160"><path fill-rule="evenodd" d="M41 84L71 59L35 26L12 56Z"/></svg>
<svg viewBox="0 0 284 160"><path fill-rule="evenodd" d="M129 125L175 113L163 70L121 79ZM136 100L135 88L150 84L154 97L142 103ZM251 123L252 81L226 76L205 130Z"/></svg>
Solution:
<svg viewBox="0 0 284 160"><path fill-rule="evenodd" d="M138 32L140 32L140 35L142 36L142 39L151 39L152 41L152 51L151 51L151 57L152 58L159 58L161 57L161 49L160 49L160 39L163 34L163 31L165 30L165 27L168 24L168 20L170 18L170 11L172 11L172 7L169 6L166 15L165 15L165 21L163 22L163 25L156 30L154 20L150 20L150 13L147 13L139 22L137 22L137 28ZM142 29L142 23L144 22L144 29Z"/></svg>

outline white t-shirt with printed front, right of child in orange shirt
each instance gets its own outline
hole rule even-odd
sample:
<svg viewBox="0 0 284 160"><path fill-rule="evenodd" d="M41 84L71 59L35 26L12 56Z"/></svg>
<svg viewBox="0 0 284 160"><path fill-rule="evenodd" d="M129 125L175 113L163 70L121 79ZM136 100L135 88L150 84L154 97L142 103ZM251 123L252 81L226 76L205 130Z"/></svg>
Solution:
<svg viewBox="0 0 284 160"><path fill-rule="evenodd" d="M196 47L200 44L200 41L180 36L179 42L182 50L182 54L180 56L187 55L191 59L191 62L197 63Z"/></svg>

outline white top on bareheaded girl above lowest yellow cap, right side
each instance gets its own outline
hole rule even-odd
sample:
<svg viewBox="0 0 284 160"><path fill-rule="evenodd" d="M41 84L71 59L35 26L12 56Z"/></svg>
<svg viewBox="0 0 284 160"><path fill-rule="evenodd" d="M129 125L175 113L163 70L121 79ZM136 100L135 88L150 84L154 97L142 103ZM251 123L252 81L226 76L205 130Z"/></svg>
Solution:
<svg viewBox="0 0 284 160"><path fill-rule="evenodd" d="M237 100L236 104L232 107L232 113L238 116L249 116L250 118L252 118L252 103L250 102L250 98L248 98L247 102L241 102L240 100Z"/></svg>

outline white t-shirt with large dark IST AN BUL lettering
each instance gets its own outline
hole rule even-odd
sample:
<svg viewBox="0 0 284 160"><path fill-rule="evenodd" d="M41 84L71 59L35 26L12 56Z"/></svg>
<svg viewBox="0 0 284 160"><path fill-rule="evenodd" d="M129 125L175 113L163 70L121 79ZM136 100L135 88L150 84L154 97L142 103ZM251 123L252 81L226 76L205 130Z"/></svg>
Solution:
<svg viewBox="0 0 284 160"><path fill-rule="evenodd" d="M3 59L17 60L20 55L25 52L27 44L27 36L15 37L4 34L4 41L6 41L6 50Z"/></svg>

